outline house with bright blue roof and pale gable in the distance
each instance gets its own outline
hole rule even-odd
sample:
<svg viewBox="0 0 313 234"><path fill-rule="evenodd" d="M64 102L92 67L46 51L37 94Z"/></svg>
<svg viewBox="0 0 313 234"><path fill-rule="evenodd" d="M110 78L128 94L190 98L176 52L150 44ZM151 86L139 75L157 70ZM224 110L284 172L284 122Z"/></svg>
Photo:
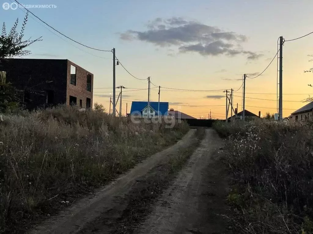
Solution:
<svg viewBox="0 0 313 234"><path fill-rule="evenodd" d="M160 113L158 114L159 102L150 102L150 118L155 116L167 116L168 102L160 102ZM148 102L147 101L133 101L131 102L131 113L138 117L148 116Z"/></svg>

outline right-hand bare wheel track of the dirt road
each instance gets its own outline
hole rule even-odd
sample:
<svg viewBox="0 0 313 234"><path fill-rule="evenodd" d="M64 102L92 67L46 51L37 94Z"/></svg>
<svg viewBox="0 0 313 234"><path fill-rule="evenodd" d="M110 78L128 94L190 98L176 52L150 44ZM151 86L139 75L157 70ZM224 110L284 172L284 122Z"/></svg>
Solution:
<svg viewBox="0 0 313 234"><path fill-rule="evenodd" d="M227 173L218 160L222 140L213 129L156 203L137 233L230 233L225 198Z"/></svg>

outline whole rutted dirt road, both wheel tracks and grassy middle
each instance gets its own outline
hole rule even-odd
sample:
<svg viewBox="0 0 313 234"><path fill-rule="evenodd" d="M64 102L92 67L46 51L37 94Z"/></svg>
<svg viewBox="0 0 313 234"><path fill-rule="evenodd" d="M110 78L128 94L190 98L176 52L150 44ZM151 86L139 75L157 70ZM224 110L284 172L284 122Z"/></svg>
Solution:
<svg viewBox="0 0 313 234"><path fill-rule="evenodd" d="M203 135L203 129L190 130L177 144L28 233L229 233L221 216L228 190L218 160L223 143L212 129ZM173 168L186 160L175 178Z"/></svg>

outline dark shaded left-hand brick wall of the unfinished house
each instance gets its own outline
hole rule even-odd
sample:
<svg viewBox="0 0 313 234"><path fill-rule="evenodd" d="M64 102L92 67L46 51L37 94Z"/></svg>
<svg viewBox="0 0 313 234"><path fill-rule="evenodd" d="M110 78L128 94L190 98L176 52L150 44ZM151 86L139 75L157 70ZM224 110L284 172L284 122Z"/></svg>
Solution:
<svg viewBox="0 0 313 234"><path fill-rule="evenodd" d="M60 59L5 59L0 70L7 71L7 81L17 90L29 91L28 109L46 106L46 90L53 90L53 105L66 102L67 60Z"/></svg>

